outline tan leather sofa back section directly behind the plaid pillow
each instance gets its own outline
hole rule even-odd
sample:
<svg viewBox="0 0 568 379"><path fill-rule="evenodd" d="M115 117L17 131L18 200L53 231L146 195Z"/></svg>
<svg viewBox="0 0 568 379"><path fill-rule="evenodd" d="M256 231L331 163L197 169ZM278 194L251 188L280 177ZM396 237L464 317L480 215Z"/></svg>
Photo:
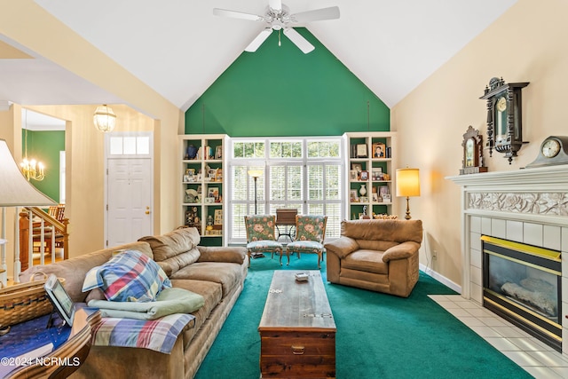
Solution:
<svg viewBox="0 0 568 379"><path fill-rule="evenodd" d="M84 303L85 297L89 295L89 293L82 291L83 281L87 272L95 266L103 265L113 256L115 251L124 249L135 249L147 257L153 257L152 249L146 242L131 242L114 248L97 250L79 257L73 257L55 265L35 265L22 272L20 280L27 282L35 272L45 272L47 275L53 273L58 278L65 278L65 289L74 303Z"/></svg>

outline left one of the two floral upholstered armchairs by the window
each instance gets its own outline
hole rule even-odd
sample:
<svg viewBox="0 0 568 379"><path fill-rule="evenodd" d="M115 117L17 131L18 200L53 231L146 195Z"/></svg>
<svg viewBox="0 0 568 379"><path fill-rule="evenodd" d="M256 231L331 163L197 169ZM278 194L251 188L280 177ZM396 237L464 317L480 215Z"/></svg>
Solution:
<svg viewBox="0 0 568 379"><path fill-rule="evenodd" d="M276 241L276 216L273 215L254 215L245 216L245 227L247 228L247 255L248 266L252 254L274 253L280 254L280 265L282 265L282 244Z"/></svg>

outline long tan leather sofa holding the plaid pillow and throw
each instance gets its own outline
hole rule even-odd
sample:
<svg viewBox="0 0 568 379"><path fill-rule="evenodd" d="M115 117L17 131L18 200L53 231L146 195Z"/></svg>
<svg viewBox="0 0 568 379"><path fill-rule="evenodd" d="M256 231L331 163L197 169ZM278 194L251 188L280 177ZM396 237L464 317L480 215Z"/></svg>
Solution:
<svg viewBox="0 0 568 379"><path fill-rule="evenodd" d="M88 358L72 377L84 378L192 378L218 331L241 294L248 270L244 248L198 246L195 228L177 229L149 236L112 249L103 249L52 265L38 265L22 273L28 280L34 272L54 273L66 279L73 300L83 303L85 274L103 265L119 249L135 249L152 257L167 273L174 288L185 288L205 298L170 354L140 348L92 346Z"/></svg>

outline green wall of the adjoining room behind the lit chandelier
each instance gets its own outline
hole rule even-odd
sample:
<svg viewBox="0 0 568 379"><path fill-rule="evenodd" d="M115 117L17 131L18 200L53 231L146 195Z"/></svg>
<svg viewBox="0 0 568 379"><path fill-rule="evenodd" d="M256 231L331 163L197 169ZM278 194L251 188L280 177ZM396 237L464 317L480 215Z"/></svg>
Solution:
<svg viewBox="0 0 568 379"><path fill-rule="evenodd" d="M22 130L21 151L25 152L26 130ZM28 130L28 157L43 162L45 178L30 180L45 195L59 202L59 152L65 150L65 131ZM23 153L22 153L23 154Z"/></svg>

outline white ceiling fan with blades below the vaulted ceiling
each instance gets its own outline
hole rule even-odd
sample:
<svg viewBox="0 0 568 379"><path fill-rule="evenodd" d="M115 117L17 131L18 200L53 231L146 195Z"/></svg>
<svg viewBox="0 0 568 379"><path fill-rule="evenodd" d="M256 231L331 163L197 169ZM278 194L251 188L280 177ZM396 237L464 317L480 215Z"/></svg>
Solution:
<svg viewBox="0 0 568 379"><path fill-rule="evenodd" d="M272 30L278 30L279 32L283 30L284 36L287 36L292 43L296 44L298 49L303 51L304 54L307 54L314 49L312 43L309 43L303 36L296 32L292 26L300 22L339 19L339 7L332 6L329 8L290 14L288 6L282 4L281 0L268 0L268 9L266 13L264 13L264 16L219 8L214 8L213 14L242 20L264 21L266 23L266 28L248 44L245 51L255 52L256 49L264 43L266 38L271 35Z"/></svg>

